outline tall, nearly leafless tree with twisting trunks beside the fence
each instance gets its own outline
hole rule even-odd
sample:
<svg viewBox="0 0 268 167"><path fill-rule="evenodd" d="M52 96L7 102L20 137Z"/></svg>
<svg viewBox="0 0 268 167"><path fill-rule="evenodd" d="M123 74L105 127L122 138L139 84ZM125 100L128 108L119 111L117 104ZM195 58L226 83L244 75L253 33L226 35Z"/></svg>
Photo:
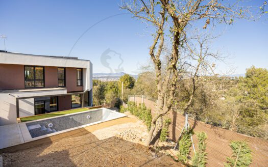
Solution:
<svg viewBox="0 0 268 167"><path fill-rule="evenodd" d="M180 78L178 62L189 30L198 20L204 20L203 29L210 23L233 23L235 18L251 18L248 7L240 7L240 1L231 4L219 0L137 0L123 3L122 9L134 17L150 23L155 28L149 54L155 66L157 84L157 114L152 119L148 146L157 146L162 129L162 116L167 114L174 103L177 81ZM266 4L265 4L266 5ZM169 31L166 30L169 28ZM165 73L162 72L162 55L165 37L170 38L170 55ZM164 100L166 97L166 105Z"/></svg>

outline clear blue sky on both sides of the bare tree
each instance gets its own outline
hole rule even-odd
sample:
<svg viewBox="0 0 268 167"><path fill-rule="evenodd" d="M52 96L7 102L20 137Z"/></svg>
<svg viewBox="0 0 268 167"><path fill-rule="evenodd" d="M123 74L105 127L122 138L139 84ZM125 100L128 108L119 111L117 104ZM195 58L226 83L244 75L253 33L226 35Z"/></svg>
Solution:
<svg viewBox="0 0 268 167"><path fill-rule="evenodd" d="M6 47L10 52L68 56L77 39L95 24L80 38L70 56L90 60L94 73L111 72L103 63L107 61L112 72L120 69L134 74L138 72L138 64L149 60L151 30L130 14L113 16L125 13L119 10L118 4L120 1L108 0L0 0L0 35L8 36ZM107 17L110 18L103 20ZM236 68L236 74L245 73L252 65L268 67L265 18L258 22L238 21L221 29L225 32L213 42L213 48L231 57L228 62ZM0 50L4 50L3 40L0 40ZM105 59L107 54L111 60ZM226 68L218 66L219 71Z"/></svg>

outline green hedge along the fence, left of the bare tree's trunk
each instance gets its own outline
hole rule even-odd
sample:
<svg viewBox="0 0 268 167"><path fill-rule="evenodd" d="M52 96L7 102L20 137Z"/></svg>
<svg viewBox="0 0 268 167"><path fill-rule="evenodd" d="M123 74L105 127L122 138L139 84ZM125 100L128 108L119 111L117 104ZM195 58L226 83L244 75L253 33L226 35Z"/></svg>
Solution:
<svg viewBox="0 0 268 167"><path fill-rule="evenodd" d="M128 110L131 114L138 117L141 121L145 123L148 129L151 128L152 122L152 114L151 109L148 109L144 104L137 104L135 102L130 101L128 103L128 107L120 108L120 112L126 112Z"/></svg>

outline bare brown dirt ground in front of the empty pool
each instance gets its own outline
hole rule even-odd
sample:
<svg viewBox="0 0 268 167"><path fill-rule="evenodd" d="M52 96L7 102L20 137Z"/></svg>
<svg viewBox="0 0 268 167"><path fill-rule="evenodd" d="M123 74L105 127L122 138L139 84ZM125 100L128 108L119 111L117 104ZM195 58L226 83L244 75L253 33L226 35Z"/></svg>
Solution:
<svg viewBox="0 0 268 167"><path fill-rule="evenodd" d="M183 166L143 146L146 128L129 115L3 149L0 155L4 166Z"/></svg>

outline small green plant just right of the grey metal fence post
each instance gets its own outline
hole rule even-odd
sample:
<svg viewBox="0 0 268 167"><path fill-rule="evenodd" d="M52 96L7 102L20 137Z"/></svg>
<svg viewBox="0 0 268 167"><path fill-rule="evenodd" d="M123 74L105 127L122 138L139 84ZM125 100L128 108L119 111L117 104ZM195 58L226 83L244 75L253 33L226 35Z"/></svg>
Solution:
<svg viewBox="0 0 268 167"><path fill-rule="evenodd" d="M206 166L206 160L207 160L207 153L206 151L206 139L207 135L205 132L201 132L197 134L198 137L198 151L196 154L194 154L193 160L192 160L192 166L194 167L204 167Z"/></svg>

